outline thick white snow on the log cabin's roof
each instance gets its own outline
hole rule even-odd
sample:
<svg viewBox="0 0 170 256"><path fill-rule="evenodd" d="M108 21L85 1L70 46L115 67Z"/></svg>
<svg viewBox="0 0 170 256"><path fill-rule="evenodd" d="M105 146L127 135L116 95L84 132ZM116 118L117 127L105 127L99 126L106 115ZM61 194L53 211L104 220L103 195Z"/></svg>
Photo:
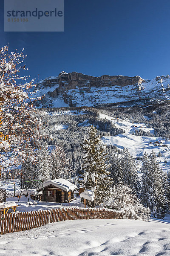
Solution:
<svg viewBox="0 0 170 256"><path fill-rule="evenodd" d="M43 183L43 187L46 187L49 185L56 186L57 188L63 189L66 192L77 189L76 185L74 185L73 183L65 179L49 180ZM40 186L38 190L40 189L42 189L42 186Z"/></svg>

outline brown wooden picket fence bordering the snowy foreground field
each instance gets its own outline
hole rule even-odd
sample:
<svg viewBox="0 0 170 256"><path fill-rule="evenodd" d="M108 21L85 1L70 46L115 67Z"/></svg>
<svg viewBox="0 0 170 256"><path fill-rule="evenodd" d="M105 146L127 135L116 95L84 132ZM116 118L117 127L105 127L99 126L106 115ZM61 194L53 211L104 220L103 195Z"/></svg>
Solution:
<svg viewBox="0 0 170 256"><path fill-rule="evenodd" d="M0 234L30 230L52 222L92 218L121 218L121 212L111 209L68 207L31 212L0 213Z"/></svg>

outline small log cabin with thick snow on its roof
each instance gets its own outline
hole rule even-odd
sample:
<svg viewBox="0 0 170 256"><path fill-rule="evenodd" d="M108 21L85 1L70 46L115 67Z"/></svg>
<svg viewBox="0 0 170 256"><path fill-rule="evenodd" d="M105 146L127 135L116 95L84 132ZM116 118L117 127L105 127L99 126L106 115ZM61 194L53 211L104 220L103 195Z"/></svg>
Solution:
<svg viewBox="0 0 170 256"><path fill-rule="evenodd" d="M77 186L65 179L49 180L43 183L46 200L48 202L68 203L74 199ZM37 190L42 191L42 186ZM46 201L42 193L40 201Z"/></svg>

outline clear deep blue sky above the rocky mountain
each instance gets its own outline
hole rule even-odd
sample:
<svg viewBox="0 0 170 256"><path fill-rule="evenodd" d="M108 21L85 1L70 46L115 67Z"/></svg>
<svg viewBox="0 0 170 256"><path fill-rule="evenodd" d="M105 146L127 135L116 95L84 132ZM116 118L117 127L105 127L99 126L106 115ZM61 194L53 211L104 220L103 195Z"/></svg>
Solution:
<svg viewBox="0 0 170 256"><path fill-rule="evenodd" d="M65 0L65 32L4 32L0 47L25 48L31 78L59 72L153 79L170 74L169 0Z"/></svg>

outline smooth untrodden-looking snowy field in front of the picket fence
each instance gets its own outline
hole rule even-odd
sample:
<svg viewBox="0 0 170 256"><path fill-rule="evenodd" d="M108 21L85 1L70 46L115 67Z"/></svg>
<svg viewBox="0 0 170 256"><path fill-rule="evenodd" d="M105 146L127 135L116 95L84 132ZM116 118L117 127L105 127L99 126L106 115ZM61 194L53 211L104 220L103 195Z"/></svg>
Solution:
<svg viewBox="0 0 170 256"><path fill-rule="evenodd" d="M47 224L1 236L0 256L170 256L169 222L91 219Z"/></svg>

